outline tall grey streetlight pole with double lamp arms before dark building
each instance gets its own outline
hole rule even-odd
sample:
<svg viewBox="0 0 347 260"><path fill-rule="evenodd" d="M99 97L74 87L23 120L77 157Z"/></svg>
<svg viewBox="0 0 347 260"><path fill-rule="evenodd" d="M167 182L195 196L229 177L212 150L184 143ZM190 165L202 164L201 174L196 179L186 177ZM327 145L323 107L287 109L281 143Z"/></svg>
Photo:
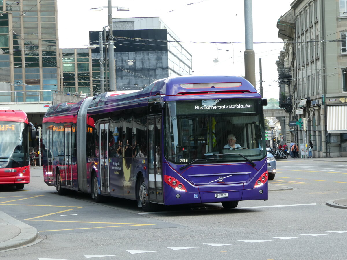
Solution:
<svg viewBox="0 0 347 260"><path fill-rule="evenodd" d="M108 21L109 21L109 70L110 70L110 90L116 90L116 67L113 54L113 21L112 21L112 1L107 0Z"/></svg>

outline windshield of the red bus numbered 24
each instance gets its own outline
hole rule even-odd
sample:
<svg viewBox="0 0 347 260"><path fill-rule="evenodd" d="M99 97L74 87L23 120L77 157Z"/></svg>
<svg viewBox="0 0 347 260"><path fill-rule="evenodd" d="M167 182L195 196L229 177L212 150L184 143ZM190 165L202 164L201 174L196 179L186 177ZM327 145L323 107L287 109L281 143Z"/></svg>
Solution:
<svg viewBox="0 0 347 260"><path fill-rule="evenodd" d="M28 127L22 122L0 121L0 168L29 164Z"/></svg>

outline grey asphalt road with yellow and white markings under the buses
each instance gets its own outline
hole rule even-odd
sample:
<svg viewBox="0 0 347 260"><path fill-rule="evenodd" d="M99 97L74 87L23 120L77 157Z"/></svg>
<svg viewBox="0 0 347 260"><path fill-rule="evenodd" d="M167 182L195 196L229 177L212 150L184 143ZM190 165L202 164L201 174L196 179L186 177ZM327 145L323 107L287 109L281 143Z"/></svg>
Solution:
<svg viewBox="0 0 347 260"><path fill-rule="evenodd" d="M164 208L144 213L136 202L95 203L86 194L58 196L41 168L23 191L1 191L0 210L34 226L43 239L0 253L3 259L345 259L347 161L277 161L268 201ZM5 203L4 203L5 202Z"/></svg>

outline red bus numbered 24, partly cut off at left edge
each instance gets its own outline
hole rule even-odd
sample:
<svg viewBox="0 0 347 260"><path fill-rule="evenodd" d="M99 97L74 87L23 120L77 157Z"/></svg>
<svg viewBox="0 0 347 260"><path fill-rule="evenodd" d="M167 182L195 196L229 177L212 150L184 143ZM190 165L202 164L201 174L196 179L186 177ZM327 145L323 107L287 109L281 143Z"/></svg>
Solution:
<svg viewBox="0 0 347 260"><path fill-rule="evenodd" d="M36 128L21 110L0 110L0 184L23 189L30 183L29 134Z"/></svg>

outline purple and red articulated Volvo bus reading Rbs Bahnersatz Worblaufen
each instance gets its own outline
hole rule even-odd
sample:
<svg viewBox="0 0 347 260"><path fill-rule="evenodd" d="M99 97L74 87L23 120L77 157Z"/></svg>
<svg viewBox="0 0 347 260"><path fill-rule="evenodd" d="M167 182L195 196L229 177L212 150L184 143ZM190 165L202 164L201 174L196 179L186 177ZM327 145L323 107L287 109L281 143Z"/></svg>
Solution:
<svg viewBox="0 0 347 260"><path fill-rule="evenodd" d="M59 194L137 200L144 211L267 200L264 105L242 77L182 76L52 106L44 180Z"/></svg>

